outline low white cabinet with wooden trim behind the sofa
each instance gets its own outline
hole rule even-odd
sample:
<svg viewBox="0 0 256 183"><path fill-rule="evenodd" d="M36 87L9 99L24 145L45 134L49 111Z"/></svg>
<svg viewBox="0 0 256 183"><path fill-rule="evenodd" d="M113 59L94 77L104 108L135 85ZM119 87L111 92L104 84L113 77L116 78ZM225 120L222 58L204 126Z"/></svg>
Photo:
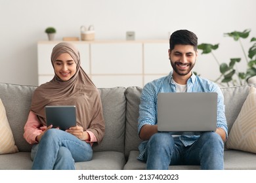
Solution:
<svg viewBox="0 0 256 183"><path fill-rule="evenodd" d="M38 84L53 78L51 52L58 41L39 41ZM72 41L81 66L98 88L140 86L171 70L168 41Z"/></svg>

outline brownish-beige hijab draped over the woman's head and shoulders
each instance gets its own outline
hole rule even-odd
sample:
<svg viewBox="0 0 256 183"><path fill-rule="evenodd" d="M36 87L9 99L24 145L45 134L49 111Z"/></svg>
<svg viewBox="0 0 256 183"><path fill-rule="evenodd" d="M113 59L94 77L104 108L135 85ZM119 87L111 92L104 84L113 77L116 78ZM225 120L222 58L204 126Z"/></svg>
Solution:
<svg viewBox="0 0 256 183"><path fill-rule="evenodd" d="M31 110L37 114L41 124L46 125L46 105L75 105L77 124L84 130L93 132L97 141L100 142L105 129L100 94L81 68L80 54L73 44L68 42L56 44L51 54L52 65L63 53L70 54L77 64L75 75L68 81L62 81L55 74L50 82L39 86L33 93Z"/></svg>

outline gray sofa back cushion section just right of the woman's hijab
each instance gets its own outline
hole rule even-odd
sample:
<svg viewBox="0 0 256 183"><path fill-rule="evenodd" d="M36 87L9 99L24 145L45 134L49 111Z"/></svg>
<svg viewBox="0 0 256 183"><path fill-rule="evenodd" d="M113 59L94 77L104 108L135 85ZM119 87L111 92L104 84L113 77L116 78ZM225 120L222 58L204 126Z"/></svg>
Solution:
<svg viewBox="0 0 256 183"><path fill-rule="evenodd" d="M93 146L95 152L124 152L125 145L125 88L99 88L105 120L105 135L100 144Z"/></svg>

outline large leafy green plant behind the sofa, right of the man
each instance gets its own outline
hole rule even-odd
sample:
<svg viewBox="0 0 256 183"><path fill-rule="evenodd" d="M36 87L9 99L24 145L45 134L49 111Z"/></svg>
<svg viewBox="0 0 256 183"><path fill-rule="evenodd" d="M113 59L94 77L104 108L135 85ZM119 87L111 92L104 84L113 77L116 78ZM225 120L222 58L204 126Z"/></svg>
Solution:
<svg viewBox="0 0 256 183"><path fill-rule="evenodd" d="M198 45L198 49L203 50L202 54L211 53L219 65L221 75L215 80L215 82L219 82L221 80L219 84L226 84L226 86L230 86L230 82L233 86L239 84L243 85L249 78L256 76L256 38L251 38L250 42L254 42L254 44L249 48L247 54L245 53L245 49L241 41L241 39L247 39L247 37L249 37L250 31L251 30L249 29L245 29L243 32L234 31L231 33L224 33L224 36L232 37L234 41L239 41L242 52L244 53L245 64L247 65L246 71L244 72L238 71L237 67L234 69L236 63L240 62L242 58L230 58L229 63L219 63L215 54L213 54L213 50L217 50L217 48L219 48L219 44L202 43Z"/></svg>

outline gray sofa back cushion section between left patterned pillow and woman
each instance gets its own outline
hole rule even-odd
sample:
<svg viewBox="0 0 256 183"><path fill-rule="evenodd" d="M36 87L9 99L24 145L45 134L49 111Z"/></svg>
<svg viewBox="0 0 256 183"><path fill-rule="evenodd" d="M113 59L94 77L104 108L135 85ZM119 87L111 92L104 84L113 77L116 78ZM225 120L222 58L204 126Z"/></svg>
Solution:
<svg viewBox="0 0 256 183"><path fill-rule="evenodd" d="M30 152L32 145L23 138L31 99L36 86L0 83L0 98L5 105L14 141L20 152Z"/></svg>

